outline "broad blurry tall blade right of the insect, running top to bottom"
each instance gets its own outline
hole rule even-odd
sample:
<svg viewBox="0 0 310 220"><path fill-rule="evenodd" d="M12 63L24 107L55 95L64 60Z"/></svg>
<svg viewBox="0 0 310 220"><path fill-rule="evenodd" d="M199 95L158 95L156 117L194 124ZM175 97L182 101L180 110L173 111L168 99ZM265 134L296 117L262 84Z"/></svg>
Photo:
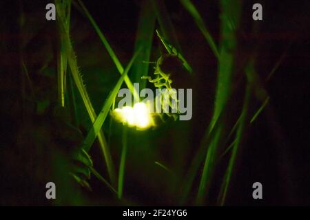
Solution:
<svg viewBox="0 0 310 220"><path fill-rule="evenodd" d="M220 39L220 59L218 67L218 81L216 89L216 98L214 102L214 114L211 119L211 127L214 126L220 113L223 111L227 104L229 94L231 94L231 76L234 65L234 52L236 50L236 29L231 29L230 23L233 22L236 27L240 20L241 4L229 0L220 1L221 5L221 39ZM234 7L231 7L234 5ZM234 19L234 21L230 21ZM228 111L228 109L224 109ZM203 173L201 175L200 184L198 188L198 195L196 202L198 204L203 202L205 195L210 186L211 177L214 173L214 163L216 153L220 140L223 139L225 129L225 122L218 126L215 131L214 137L211 137L207 154L205 156L205 164L203 166Z"/></svg>

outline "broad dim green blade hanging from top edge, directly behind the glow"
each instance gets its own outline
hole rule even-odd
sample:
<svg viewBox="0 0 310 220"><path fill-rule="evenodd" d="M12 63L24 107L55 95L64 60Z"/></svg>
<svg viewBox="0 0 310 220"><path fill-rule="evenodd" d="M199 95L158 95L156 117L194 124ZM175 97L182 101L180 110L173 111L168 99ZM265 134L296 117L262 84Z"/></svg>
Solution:
<svg viewBox="0 0 310 220"><path fill-rule="evenodd" d="M132 78L139 83L140 89L145 88L147 80L141 80L141 76L147 76L149 71L149 56L152 50L156 16L151 0L142 1L141 12L136 32L134 50L141 48L141 53L132 65Z"/></svg>

